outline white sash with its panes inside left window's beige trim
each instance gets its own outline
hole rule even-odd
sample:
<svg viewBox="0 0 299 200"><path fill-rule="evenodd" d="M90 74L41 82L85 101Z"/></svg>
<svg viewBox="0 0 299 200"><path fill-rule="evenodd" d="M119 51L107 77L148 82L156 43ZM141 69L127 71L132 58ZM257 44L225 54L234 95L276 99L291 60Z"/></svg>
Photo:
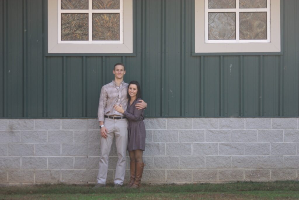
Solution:
<svg viewBox="0 0 299 200"><path fill-rule="evenodd" d="M123 0L57 1L58 43L123 43Z"/></svg>

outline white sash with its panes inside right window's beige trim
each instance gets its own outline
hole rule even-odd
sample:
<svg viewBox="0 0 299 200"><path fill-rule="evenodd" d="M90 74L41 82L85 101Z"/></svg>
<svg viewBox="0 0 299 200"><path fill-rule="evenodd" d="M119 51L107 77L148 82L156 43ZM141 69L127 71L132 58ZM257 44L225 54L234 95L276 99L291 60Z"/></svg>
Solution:
<svg viewBox="0 0 299 200"><path fill-rule="evenodd" d="M205 0L205 43L269 43L270 0Z"/></svg>

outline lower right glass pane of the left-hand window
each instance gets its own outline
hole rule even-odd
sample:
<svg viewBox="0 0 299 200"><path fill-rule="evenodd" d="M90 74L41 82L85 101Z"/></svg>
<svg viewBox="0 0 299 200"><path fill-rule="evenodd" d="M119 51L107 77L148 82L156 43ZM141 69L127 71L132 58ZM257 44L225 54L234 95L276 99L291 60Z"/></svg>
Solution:
<svg viewBox="0 0 299 200"><path fill-rule="evenodd" d="M92 40L119 40L119 13L93 13Z"/></svg>

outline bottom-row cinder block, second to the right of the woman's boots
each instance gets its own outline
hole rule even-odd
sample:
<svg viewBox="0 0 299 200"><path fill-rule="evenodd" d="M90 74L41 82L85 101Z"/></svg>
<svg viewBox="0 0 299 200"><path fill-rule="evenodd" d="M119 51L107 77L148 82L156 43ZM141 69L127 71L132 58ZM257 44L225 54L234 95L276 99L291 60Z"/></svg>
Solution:
<svg viewBox="0 0 299 200"><path fill-rule="evenodd" d="M166 182L190 183L192 182L192 170L168 169L166 170Z"/></svg>

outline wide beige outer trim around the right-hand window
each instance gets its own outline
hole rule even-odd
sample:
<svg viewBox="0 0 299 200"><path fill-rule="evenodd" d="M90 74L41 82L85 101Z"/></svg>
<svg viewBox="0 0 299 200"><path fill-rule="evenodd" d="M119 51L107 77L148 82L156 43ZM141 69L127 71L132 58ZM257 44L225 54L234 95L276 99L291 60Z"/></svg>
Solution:
<svg viewBox="0 0 299 200"><path fill-rule="evenodd" d="M205 40L205 0L194 0L193 55L223 55L225 53L281 54L280 0L270 0L270 42L207 43Z"/></svg>

